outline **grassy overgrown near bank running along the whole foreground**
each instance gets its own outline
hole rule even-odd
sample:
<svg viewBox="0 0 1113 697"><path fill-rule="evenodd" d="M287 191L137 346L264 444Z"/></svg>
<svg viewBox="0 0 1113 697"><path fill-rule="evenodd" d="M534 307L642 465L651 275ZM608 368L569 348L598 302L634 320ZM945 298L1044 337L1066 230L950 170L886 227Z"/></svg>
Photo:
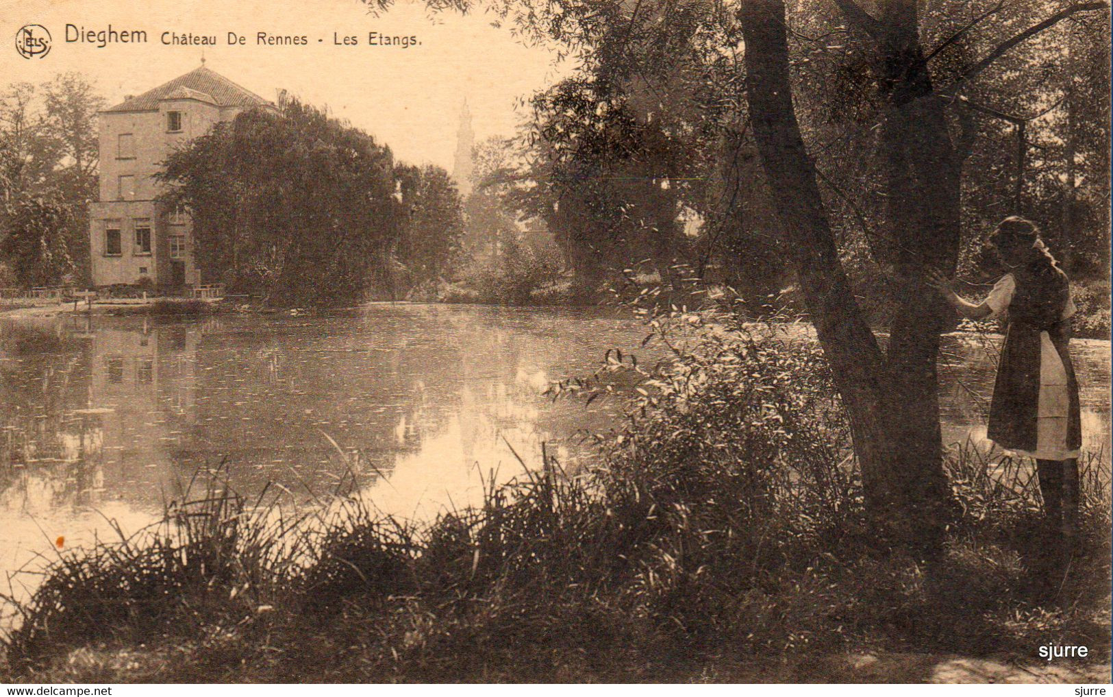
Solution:
<svg viewBox="0 0 1113 697"><path fill-rule="evenodd" d="M963 512L942 549L867 533L809 343L711 333L643 377L597 468L546 461L423 523L357 493L294 514L216 472L160 526L62 552L7 637L4 677L839 679L850 654L1034 664L1046 644L1109 660L1101 459L1083 462L1073 572L1043 583L1031 471L973 448L947 459Z"/></svg>

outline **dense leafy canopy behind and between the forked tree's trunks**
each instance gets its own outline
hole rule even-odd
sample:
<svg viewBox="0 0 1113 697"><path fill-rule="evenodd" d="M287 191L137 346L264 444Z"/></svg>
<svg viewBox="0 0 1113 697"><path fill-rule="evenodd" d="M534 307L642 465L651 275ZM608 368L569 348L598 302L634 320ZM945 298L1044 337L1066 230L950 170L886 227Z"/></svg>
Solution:
<svg viewBox="0 0 1113 697"><path fill-rule="evenodd" d="M948 99L946 118L957 157L967 160L963 268L997 220L1023 213L1041 222L1068 272L1077 265L1082 274L1105 274L1107 22L1101 12L1071 12L1013 50L995 50L1072 7L935 0L918 11L928 77L940 94L962 95ZM600 266L620 269L651 256L666 282L670 262L680 261L745 294L784 285L785 249L755 158L731 7L503 0L487 9L496 23L555 41L562 57L577 60L569 78L534 96L534 118L519 143L525 155L495 168L495 179L510 189L512 207L546 216L580 283L598 281L607 271ZM851 271L864 281L865 301L884 318L894 286L873 278L894 273L886 258L895 240L886 212L893 196L877 128L889 78L865 32L839 8L790 2L788 12L797 111L825 204ZM993 58L985 62L987 55ZM1082 100L1081 94L1099 97ZM1002 114L1027 119L1023 171L1016 125ZM632 184L647 177L670 178L670 193ZM692 242L670 229L683 212L700 224Z"/></svg>

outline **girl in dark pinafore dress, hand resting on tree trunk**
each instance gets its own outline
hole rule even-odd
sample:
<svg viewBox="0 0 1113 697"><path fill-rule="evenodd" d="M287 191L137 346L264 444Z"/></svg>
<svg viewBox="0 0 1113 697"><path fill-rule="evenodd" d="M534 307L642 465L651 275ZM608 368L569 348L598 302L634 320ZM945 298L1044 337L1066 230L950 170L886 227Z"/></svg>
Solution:
<svg viewBox="0 0 1113 697"><path fill-rule="evenodd" d="M1046 551L1068 559L1076 530L1082 444L1078 383L1067 348L1074 303L1066 274L1031 220L1005 218L989 243L1009 273L982 303L959 297L934 269L928 283L971 320L1007 310L987 435L1001 448L1036 461L1047 520Z"/></svg>

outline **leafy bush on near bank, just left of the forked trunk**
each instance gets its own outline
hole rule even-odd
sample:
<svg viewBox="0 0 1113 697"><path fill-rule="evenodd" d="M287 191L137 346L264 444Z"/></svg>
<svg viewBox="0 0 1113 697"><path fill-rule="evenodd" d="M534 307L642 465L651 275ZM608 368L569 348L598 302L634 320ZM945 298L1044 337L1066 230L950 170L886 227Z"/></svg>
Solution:
<svg viewBox="0 0 1113 697"><path fill-rule="evenodd" d="M687 338L697 345L644 383L644 410L605 441L605 481L638 482L662 519L640 558L642 611L752 640L738 619L765 611L758 596L861 534L848 431L814 342L774 325Z"/></svg>

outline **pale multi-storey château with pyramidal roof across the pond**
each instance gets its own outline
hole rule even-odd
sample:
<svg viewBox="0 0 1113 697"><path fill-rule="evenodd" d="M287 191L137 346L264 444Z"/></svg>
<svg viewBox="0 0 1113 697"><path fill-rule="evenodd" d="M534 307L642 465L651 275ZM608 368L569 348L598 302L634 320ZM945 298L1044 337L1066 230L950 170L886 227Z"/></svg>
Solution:
<svg viewBox="0 0 1113 697"><path fill-rule="evenodd" d="M99 115L100 186L89 207L95 286L150 283L188 288L201 278L194 262L189 216L156 198L155 174L183 143L246 109L273 105L201 67Z"/></svg>

